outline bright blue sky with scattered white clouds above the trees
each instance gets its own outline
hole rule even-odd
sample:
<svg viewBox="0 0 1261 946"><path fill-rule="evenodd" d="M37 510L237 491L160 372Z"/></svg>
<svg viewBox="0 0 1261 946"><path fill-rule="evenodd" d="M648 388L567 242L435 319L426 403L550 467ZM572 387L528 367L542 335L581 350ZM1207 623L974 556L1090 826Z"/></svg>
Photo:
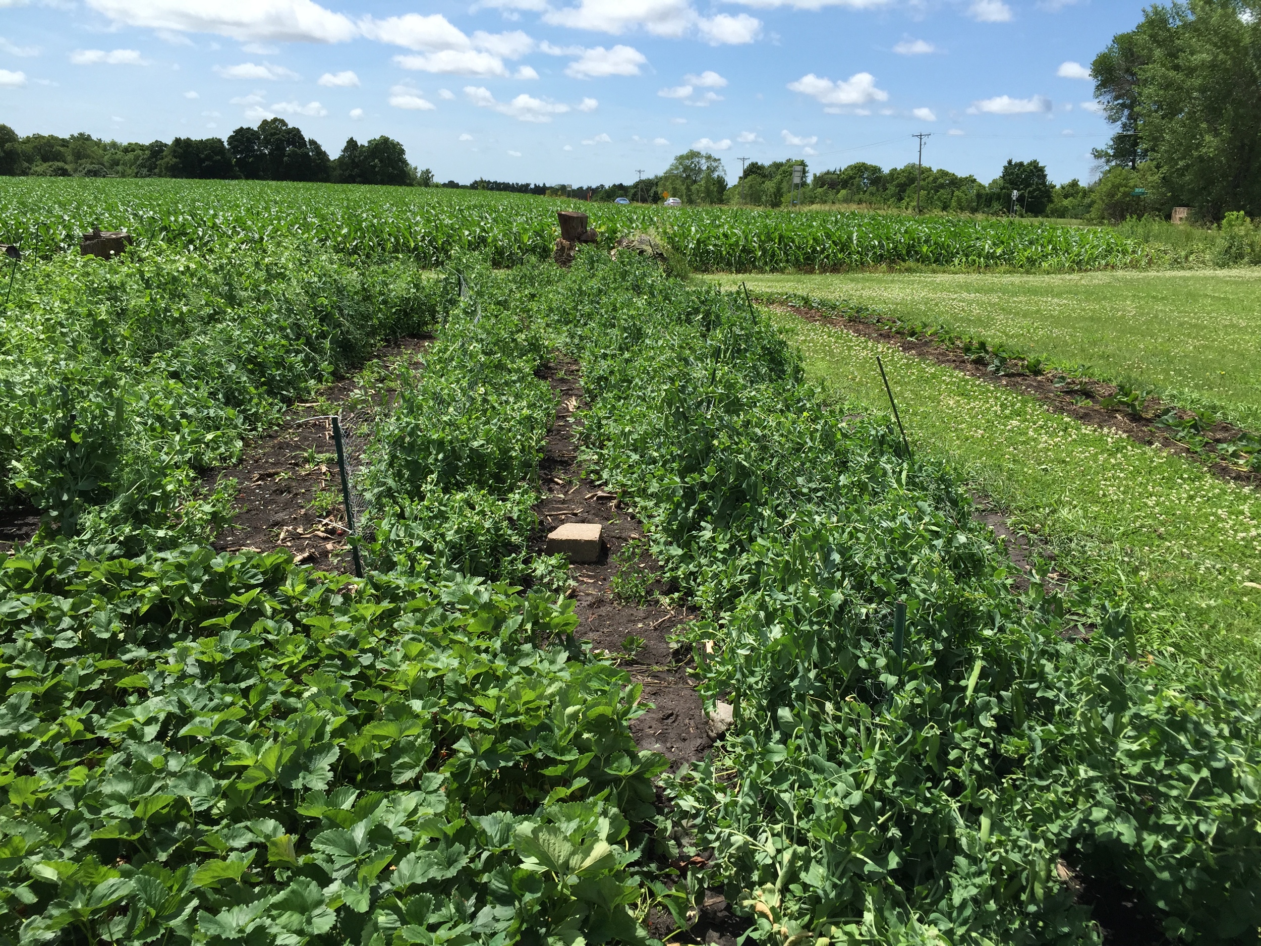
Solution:
<svg viewBox="0 0 1261 946"><path fill-rule="evenodd" d="M1140 0L0 0L19 134L390 135L440 180L634 180L691 146L812 170L1091 177L1084 68Z"/></svg>

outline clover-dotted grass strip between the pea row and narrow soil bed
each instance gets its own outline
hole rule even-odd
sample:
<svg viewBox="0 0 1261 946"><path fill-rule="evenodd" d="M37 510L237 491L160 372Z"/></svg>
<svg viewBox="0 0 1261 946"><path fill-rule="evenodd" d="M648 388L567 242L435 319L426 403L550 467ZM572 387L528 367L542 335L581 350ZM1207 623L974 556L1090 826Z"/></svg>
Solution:
<svg viewBox="0 0 1261 946"><path fill-rule="evenodd" d="M881 354L912 449L950 462L1014 526L1043 535L1059 571L1127 603L1144 646L1229 660L1261 689L1261 588L1245 584L1261 585L1257 492L892 346L777 318L812 376L888 411Z"/></svg>

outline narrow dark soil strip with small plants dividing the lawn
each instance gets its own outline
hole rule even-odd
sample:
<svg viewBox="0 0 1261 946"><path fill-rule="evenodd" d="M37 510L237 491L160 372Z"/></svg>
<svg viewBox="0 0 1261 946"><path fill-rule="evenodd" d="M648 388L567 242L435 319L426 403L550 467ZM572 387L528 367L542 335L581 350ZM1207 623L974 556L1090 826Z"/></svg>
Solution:
<svg viewBox="0 0 1261 946"><path fill-rule="evenodd" d="M1071 383L1057 387L1057 375L1052 372L1042 375L999 375L990 371L989 366L972 361L960 349L950 348L934 338L907 338L892 329L865 322L860 318L846 318L817 309L803 309L796 305L777 308L792 312L808 322L841 328L863 338L886 342L909 354L928 358L938 365L947 365L965 375L982 378L1011 391L1019 391L1030 397L1037 397L1055 414L1067 415L1083 424L1110 428L1131 440L1137 440L1140 444L1154 444L1182 457L1193 457L1223 479L1261 487L1261 473L1240 469L1222 460L1204 460L1200 454L1169 436L1169 431L1155 423L1155 418L1164 414L1166 409L1166 405L1161 404L1156 397L1149 397L1142 407L1144 415L1136 416L1125 410L1103 407L1096 404L1100 399L1113 396L1117 392L1115 385L1091 378L1072 378ZM1177 411L1177 414L1183 419L1192 416L1189 411ZM1212 429L1202 431L1200 435L1211 443L1218 444L1233 440L1241 433L1243 431L1231 424L1218 423Z"/></svg>

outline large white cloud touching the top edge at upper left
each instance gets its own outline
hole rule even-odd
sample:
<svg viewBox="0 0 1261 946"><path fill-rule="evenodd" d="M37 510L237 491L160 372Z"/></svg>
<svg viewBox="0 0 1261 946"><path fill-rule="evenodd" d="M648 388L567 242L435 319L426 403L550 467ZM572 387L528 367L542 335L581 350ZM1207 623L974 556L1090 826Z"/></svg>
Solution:
<svg viewBox="0 0 1261 946"><path fill-rule="evenodd" d="M349 18L313 0L86 0L111 20L179 33L217 33L241 42L344 43L357 33Z"/></svg>

